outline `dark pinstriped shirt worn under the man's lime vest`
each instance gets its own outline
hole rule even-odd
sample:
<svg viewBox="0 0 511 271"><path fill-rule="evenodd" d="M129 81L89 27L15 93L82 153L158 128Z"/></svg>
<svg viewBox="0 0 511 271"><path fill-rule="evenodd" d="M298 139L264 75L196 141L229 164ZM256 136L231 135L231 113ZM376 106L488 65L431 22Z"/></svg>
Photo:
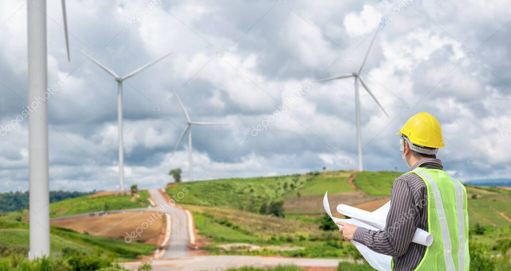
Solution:
<svg viewBox="0 0 511 271"><path fill-rule="evenodd" d="M433 158L417 162L417 167L443 169L442 161ZM415 173L399 176L390 191L390 210L385 229L373 231L359 227L353 240L369 249L393 257L394 270L413 270L421 262L426 246L412 243L416 228L428 231L427 188L424 180Z"/></svg>

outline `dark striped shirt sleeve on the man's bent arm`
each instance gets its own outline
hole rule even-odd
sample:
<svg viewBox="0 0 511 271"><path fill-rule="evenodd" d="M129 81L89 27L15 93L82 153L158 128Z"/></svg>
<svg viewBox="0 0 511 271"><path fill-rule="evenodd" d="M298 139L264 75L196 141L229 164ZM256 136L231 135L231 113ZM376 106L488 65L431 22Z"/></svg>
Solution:
<svg viewBox="0 0 511 271"><path fill-rule="evenodd" d="M373 231L359 227L353 233L353 240L375 252L399 257L408 250L415 233L417 209L410 187L401 178L394 180L390 197L392 200L385 229Z"/></svg>

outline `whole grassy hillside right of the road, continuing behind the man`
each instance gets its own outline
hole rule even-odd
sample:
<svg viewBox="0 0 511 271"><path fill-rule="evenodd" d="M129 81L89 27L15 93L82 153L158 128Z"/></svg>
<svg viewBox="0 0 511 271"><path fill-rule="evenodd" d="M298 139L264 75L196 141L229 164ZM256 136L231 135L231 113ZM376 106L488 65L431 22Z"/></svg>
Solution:
<svg viewBox="0 0 511 271"><path fill-rule="evenodd" d="M289 201L297 198L298 193L301 195L299 207L314 209L318 214L323 212L320 204L325 191L329 191L332 198L338 195L338 198L342 199L347 198L347 194L343 193L362 192L368 200L381 199L390 195L393 180L402 174L391 171L364 171L355 177L356 188L353 188L347 182L352 173L312 172L278 177L181 183L168 187L167 193L175 198L178 204L184 204L193 212L199 235L210 240L204 249L211 254L356 258L360 257L360 254L353 245L342 242L337 232L323 232L318 229L317 214L295 212L293 215L286 215L286 218L278 218L260 215L258 212L262 202L274 199ZM290 184L293 184L292 188ZM490 225L487 221L496 225L482 235L472 233L471 240L489 247L499 247L499 244L508 242L511 239L509 221L498 212L510 216L511 193L499 188L473 186L468 186L467 191L471 229L476 223L483 227ZM184 196L178 197L179 192ZM473 194L477 194L475 199L472 198ZM307 204L309 199L313 203L317 200L318 205ZM230 249L219 246L233 243L241 244ZM250 245L257 245L259 248L250 249ZM491 253L496 255L497 251L495 249ZM365 270L365 267L358 265L350 268L358 270L359 267Z"/></svg>

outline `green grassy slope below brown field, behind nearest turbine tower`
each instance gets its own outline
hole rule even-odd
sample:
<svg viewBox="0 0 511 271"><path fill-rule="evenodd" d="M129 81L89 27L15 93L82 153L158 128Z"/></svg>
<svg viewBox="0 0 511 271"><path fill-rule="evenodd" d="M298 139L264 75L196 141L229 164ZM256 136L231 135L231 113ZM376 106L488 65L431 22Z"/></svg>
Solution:
<svg viewBox="0 0 511 271"><path fill-rule="evenodd" d="M12 212L0 216L0 252L27 255L29 250L29 225L16 221L16 217L26 217L27 212ZM153 244L126 243L123 240L80 234L71 230L51 227L51 250L58 256L62 250L72 248L86 254L99 253L119 260L135 259L137 255L149 255L154 251Z"/></svg>

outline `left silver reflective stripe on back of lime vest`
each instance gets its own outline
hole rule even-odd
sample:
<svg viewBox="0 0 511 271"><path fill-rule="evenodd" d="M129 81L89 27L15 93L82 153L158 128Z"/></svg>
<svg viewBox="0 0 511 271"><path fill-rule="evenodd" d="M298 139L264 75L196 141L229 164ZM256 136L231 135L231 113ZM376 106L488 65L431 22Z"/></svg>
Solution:
<svg viewBox="0 0 511 271"><path fill-rule="evenodd" d="M438 220L440 222L440 229L442 229L442 242L444 243L444 260L446 269L449 271L455 271L454 268L454 262L452 260L451 256L451 237L449 236L449 226L447 225L447 218L444 211L444 205L442 203L442 196L440 195L440 190L438 189L438 186L436 185L435 179L431 177L426 171L421 169L415 169L417 173L421 174L423 177L425 177L429 184L431 185L431 188L433 190L434 196L435 196L435 206L436 206L436 213L438 215ZM456 200L457 205L457 200ZM459 227L459 226L458 226ZM435 236L433 236L435 238ZM464 245L464 244L463 244ZM463 269L461 269L463 270Z"/></svg>

